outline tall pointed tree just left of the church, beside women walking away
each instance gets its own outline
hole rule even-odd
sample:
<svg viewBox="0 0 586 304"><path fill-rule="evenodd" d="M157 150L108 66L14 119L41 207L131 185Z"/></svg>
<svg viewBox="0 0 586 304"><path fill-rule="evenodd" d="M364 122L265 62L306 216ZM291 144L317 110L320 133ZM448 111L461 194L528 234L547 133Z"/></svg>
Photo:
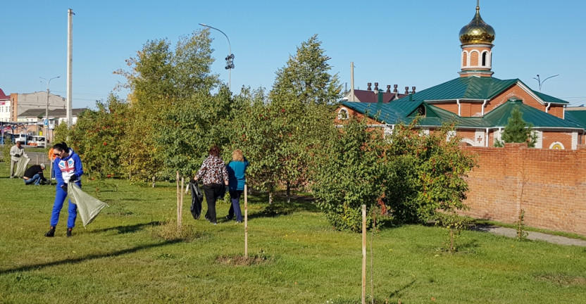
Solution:
<svg viewBox="0 0 586 304"><path fill-rule="evenodd" d="M263 107L263 117L270 123L259 125L273 136L273 148L263 156L263 163L272 167L268 188L284 185L287 201L291 189L307 184L313 150L323 143L323 135L332 125L328 104L337 101L342 91L337 75L330 75L330 58L320 46L314 35L276 72L270 103Z"/></svg>

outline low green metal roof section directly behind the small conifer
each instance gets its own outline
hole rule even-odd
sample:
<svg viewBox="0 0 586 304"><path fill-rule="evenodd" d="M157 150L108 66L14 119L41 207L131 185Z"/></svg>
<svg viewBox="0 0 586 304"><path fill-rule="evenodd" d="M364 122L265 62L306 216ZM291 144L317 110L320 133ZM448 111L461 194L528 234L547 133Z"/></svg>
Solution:
<svg viewBox="0 0 586 304"><path fill-rule="evenodd" d="M490 127L504 127L509 122L511 110L513 110L515 106L519 106L519 110L523 113L523 120L532 123L533 127L536 128L583 128L578 124L557 118L556 116L545 113L542 110L528 106L522 101L515 100L507 101L487 113L484 117L485 123L490 125Z"/></svg>

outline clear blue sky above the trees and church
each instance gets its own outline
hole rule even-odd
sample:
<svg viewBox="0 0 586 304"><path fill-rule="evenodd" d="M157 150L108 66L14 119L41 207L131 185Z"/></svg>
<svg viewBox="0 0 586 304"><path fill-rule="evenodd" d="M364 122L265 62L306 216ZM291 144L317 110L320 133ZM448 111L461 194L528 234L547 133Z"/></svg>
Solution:
<svg viewBox="0 0 586 304"><path fill-rule="evenodd" d="M188 35L205 23L223 30L235 54L232 91L270 89L289 54L313 34L330 56L332 73L356 89L367 82L432 87L458 77L459 30L474 0L410 1L4 1L0 25L0 88L6 94L46 90L66 96L67 10L73 16L73 107L94 108L123 77L147 40ZM492 70L580 106L586 103L586 4L578 0L483 0L480 13L496 32ZM212 31L213 72L228 81L227 40ZM125 98L127 92L118 94Z"/></svg>

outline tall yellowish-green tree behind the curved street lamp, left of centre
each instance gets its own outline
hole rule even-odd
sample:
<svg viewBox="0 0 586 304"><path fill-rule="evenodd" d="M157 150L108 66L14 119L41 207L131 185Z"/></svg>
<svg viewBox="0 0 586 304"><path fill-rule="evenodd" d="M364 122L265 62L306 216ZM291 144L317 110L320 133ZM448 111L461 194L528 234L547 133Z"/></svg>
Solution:
<svg viewBox="0 0 586 304"><path fill-rule="evenodd" d="M166 39L149 41L137 57L127 60L130 70L115 72L126 78L124 86L131 90L123 153L127 156L124 166L133 179L168 177L172 169L165 165L178 164L168 158L175 159L178 156L173 153L183 151L166 151L168 147L156 139L168 136L165 132L175 123L173 118L182 104L197 102L193 97L196 94L209 96L218 85L218 75L211 73L214 59L210 44L208 29L180 37L175 51L170 50Z"/></svg>

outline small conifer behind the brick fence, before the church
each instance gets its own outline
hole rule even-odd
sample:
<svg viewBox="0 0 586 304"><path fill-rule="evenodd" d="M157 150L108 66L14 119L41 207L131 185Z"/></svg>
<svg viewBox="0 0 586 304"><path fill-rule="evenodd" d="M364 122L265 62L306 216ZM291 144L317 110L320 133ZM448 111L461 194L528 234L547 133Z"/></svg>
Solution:
<svg viewBox="0 0 586 304"><path fill-rule="evenodd" d="M494 142L494 146L503 146L504 143L527 143L529 148L535 148L537 134L532 132L533 124L523 120L523 112L519 106L511 110L511 117L504 127L501 140Z"/></svg>

